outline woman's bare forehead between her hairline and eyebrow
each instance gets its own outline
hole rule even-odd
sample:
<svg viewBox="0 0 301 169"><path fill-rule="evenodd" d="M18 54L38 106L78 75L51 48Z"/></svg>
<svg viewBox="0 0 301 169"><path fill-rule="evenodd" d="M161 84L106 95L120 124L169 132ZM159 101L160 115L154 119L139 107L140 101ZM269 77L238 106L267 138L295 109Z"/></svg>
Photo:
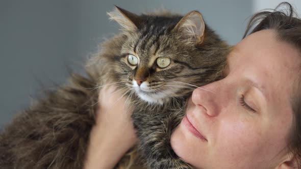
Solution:
<svg viewBox="0 0 301 169"><path fill-rule="evenodd" d="M286 76L296 74L294 72L298 72L301 65L299 51L293 45L278 40L276 36L272 30L249 35L233 48L229 65L263 68L268 72L280 71Z"/></svg>

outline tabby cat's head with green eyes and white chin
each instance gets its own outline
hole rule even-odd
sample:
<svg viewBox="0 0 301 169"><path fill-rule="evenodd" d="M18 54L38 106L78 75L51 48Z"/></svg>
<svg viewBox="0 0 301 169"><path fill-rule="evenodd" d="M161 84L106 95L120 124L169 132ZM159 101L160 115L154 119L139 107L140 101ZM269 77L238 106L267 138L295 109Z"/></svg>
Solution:
<svg viewBox="0 0 301 169"><path fill-rule="evenodd" d="M219 78L228 45L199 12L136 15L116 7L108 15L124 37L114 70L142 100L162 104Z"/></svg>

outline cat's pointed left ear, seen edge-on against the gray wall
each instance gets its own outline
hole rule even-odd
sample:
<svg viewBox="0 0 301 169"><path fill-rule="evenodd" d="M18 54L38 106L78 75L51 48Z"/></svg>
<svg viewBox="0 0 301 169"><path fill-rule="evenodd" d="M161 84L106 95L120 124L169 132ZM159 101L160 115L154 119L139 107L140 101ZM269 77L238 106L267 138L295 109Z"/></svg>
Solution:
<svg viewBox="0 0 301 169"><path fill-rule="evenodd" d="M138 15L117 6L115 6L115 10L107 14L110 16L110 20L117 21L127 31L137 30L137 25L141 21Z"/></svg>

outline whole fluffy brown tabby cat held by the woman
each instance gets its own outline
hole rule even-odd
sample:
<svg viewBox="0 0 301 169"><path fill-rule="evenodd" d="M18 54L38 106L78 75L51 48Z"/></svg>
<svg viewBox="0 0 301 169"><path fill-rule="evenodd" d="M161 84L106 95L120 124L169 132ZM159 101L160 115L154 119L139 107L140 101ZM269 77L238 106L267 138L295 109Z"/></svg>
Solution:
<svg viewBox="0 0 301 169"><path fill-rule="evenodd" d="M135 105L139 138L115 168L192 168L172 151L170 135L193 89L223 77L230 46L197 11L136 15L116 7L108 15L122 32L101 45L87 75L72 74L6 126L0 168L83 168L99 89L108 83Z"/></svg>

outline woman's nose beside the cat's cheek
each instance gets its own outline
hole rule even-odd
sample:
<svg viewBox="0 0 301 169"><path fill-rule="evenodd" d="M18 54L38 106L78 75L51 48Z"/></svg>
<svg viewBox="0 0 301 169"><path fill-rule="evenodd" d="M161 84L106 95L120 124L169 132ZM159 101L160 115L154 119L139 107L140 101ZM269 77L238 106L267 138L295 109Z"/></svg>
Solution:
<svg viewBox="0 0 301 169"><path fill-rule="evenodd" d="M215 83L215 82L213 82ZM197 88L192 92L192 102L202 111L206 112L208 116L215 117L219 114L219 100L218 96L220 91L217 91L213 84ZM213 85L213 86L212 86Z"/></svg>

